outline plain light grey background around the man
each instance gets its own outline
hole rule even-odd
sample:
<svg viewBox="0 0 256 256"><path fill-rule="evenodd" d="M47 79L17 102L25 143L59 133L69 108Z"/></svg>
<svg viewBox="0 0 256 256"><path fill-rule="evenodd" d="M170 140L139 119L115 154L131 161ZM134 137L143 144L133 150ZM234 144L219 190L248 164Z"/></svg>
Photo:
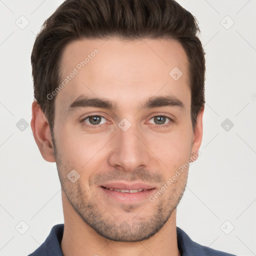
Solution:
<svg viewBox="0 0 256 256"><path fill-rule="evenodd" d="M31 49L61 2L0 0L0 255L27 255L63 223L55 163L43 160L30 128ZM178 2L199 21L207 71L202 154L190 166L177 226L200 244L255 255L256 1ZM29 124L23 131L21 118ZM226 118L234 124L227 131ZM20 221L29 226L24 234Z"/></svg>

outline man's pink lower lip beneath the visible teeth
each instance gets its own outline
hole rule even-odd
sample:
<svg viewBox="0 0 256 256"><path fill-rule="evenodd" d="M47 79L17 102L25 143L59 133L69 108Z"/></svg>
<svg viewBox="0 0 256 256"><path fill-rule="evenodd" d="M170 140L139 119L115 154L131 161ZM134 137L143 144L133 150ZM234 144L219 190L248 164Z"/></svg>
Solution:
<svg viewBox="0 0 256 256"><path fill-rule="evenodd" d="M126 193L126 192L118 192L114 190L106 189L102 186L99 187L100 190L111 199L114 199L115 201L122 202L122 203L134 203L139 202L141 200L148 199L148 197L154 193L155 188L150 190L142 190L140 192L136 193Z"/></svg>

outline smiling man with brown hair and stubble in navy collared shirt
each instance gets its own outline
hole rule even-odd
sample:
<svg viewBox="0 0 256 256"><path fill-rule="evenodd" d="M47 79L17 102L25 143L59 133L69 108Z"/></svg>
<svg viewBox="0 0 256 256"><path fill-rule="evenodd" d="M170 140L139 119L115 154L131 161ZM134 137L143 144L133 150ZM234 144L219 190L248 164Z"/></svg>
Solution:
<svg viewBox="0 0 256 256"><path fill-rule="evenodd" d="M231 255L176 227L199 155L205 61L173 0L66 0L31 55L31 128L64 225L30 255Z"/></svg>

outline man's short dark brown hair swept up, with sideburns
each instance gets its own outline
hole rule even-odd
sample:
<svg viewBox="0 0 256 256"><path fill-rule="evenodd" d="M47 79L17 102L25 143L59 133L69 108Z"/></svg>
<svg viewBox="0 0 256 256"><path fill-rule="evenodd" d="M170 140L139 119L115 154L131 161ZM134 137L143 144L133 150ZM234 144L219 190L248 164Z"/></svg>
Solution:
<svg viewBox="0 0 256 256"><path fill-rule="evenodd" d="M82 38L172 38L183 46L189 63L191 121L204 105L205 59L195 17L174 0L66 0L44 21L32 54L34 98L52 130L54 98L60 82L64 47Z"/></svg>

